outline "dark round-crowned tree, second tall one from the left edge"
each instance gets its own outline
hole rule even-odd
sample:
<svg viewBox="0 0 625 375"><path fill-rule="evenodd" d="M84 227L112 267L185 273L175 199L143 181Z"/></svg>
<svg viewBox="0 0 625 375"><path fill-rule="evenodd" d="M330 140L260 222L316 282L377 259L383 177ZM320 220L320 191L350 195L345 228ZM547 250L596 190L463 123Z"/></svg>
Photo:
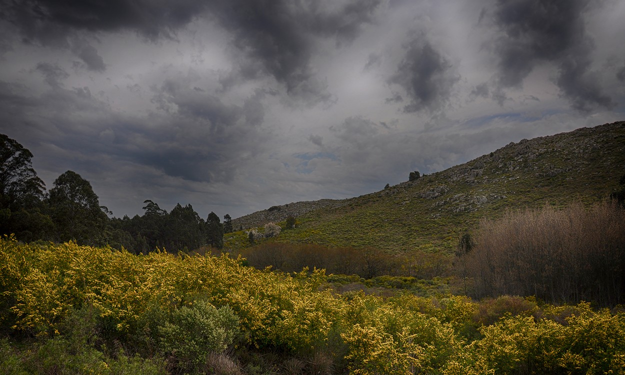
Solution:
<svg viewBox="0 0 625 375"><path fill-rule="evenodd" d="M101 245L108 217L89 181L68 170L54 180L47 202L58 240Z"/></svg>

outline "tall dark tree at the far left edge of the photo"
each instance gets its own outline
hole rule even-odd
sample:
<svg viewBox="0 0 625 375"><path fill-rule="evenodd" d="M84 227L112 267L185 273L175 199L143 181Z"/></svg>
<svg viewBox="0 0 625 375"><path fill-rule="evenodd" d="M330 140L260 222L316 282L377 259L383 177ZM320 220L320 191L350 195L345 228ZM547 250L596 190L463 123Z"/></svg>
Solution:
<svg viewBox="0 0 625 375"><path fill-rule="evenodd" d="M32 168L32 153L0 134L0 232L20 240L35 240L51 230L42 213L45 185Z"/></svg>

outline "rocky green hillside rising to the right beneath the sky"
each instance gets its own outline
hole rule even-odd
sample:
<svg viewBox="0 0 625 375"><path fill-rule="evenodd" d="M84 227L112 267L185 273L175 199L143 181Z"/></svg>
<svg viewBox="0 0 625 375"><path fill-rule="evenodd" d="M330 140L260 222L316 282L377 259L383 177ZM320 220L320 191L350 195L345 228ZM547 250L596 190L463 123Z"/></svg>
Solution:
<svg viewBox="0 0 625 375"><path fill-rule="evenodd" d="M297 228L276 240L451 252L461 233L481 218L547 203L601 200L616 190L624 166L625 122L521 140L414 182L297 215ZM248 216L254 215L262 217ZM224 237L234 248L243 245L240 239Z"/></svg>

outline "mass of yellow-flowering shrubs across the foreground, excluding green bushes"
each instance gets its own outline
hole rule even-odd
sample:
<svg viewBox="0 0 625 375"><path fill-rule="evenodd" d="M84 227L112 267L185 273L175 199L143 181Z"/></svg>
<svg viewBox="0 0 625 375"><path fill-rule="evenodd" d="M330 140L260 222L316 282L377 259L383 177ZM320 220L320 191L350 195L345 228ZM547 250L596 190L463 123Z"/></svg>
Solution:
<svg viewBox="0 0 625 375"><path fill-rule="evenodd" d="M0 328L64 339L68 316L88 307L98 329L143 345L149 357L159 354L154 348L178 353L172 338L194 328L164 322L196 316L192 306L202 301L236 314L238 345L302 356L326 351L352 374L624 374L623 313L586 303L538 308L514 297L334 295L320 288L323 270L289 275L242 264L225 255L131 255L5 237ZM173 344L163 349L164 340Z"/></svg>

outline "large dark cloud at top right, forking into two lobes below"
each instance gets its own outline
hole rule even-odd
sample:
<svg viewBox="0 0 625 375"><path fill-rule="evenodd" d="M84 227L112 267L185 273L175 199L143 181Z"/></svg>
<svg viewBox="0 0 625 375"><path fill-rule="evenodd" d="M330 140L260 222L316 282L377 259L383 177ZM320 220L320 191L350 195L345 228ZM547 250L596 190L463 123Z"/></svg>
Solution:
<svg viewBox="0 0 625 375"><path fill-rule="evenodd" d="M538 64L556 67L556 84L572 107L588 112L611 108L592 77L591 52L584 14L601 2L589 0L498 0L490 14L499 34L494 41L498 58L497 86L520 87ZM483 16L481 17L483 18Z"/></svg>

